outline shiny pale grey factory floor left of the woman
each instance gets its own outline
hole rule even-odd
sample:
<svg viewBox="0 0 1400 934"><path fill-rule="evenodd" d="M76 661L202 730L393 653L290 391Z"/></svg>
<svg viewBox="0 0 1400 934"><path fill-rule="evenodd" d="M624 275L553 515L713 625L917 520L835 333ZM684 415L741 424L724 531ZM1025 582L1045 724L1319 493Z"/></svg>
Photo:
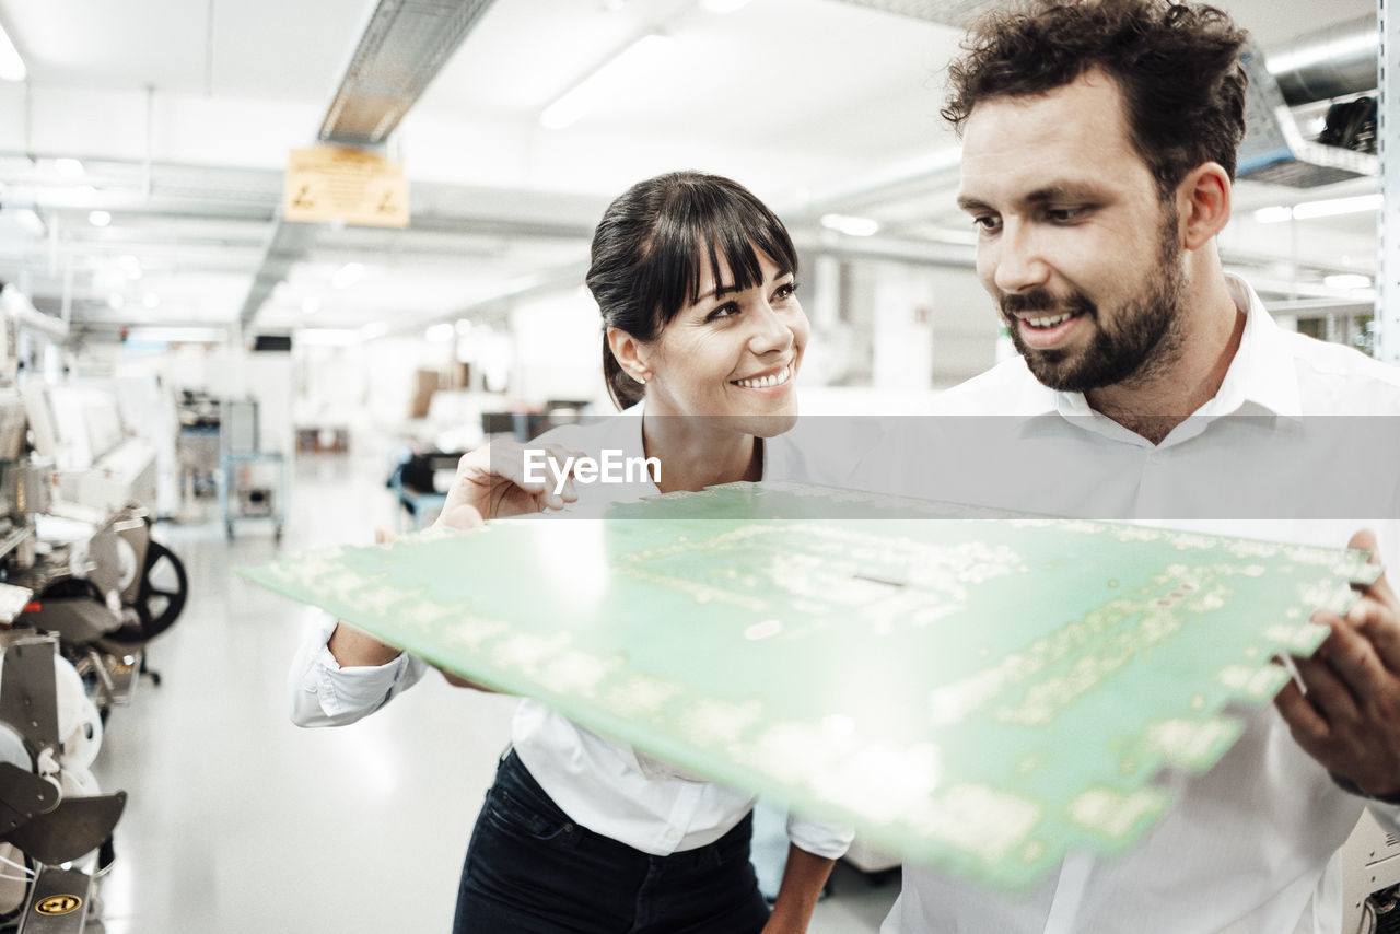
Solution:
<svg viewBox="0 0 1400 934"><path fill-rule="evenodd" d="M112 710L94 773L123 788L105 934L435 934L451 930L458 871L514 700L440 678L339 730L287 720L288 662L315 611L234 574L279 550L368 543L393 528L375 454L293 463L280 545L266 520L224 534L217 500L189 501L155 535L183 560L189 601L148 647ZM897 895L840 864L812 934L876 931Z"/></svg>

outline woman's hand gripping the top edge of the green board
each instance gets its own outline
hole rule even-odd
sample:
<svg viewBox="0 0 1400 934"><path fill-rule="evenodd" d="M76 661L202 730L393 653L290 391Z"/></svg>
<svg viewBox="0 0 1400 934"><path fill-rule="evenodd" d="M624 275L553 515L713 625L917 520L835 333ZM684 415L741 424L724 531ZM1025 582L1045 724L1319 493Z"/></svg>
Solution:
<svg viewBox="0 0 1400 934"><path fill-rule="evenodd" d="M491 441L469 451L456 463L456 476L433 525L472 528L486 520L561 510L578 500L573 478L578 456L578 451L557 444L518 441Z"/></svg>

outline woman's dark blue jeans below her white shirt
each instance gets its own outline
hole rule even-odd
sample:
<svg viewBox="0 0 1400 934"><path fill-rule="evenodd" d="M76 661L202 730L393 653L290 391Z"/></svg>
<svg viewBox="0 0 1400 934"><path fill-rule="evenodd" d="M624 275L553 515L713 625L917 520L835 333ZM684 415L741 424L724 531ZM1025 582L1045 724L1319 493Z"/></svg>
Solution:
<svg viewBox="0 0 1400 934"><path fill-rule="evenodd" d="M514 751L476 819L454 934L757 934L752 816L710 846L648 856L574 823Z"/></svg>

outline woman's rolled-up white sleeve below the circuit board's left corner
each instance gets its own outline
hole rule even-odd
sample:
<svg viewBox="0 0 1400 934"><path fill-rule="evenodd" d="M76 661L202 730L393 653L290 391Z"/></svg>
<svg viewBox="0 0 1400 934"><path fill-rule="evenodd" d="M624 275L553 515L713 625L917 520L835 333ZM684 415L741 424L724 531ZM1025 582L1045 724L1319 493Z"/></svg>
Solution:
<svg viewBox="0 0 1400 934"><path fill-rule="evenodd" d="M384 665L342 668L328 647L335 629L328 616L308 630L291 664L287 688L298 727L342 727L367 717L417 683L427 668L407 653Z"/></svg>

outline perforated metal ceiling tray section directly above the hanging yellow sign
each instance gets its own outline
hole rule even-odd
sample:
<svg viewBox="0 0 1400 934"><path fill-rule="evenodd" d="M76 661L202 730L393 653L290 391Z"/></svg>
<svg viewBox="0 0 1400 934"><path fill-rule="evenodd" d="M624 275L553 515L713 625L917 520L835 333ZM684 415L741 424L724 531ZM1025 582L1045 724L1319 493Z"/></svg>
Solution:
<svg viewBox="0 0 1400 934"><path fill-rule="evenodd" d="M319 139L382 146L491 1L379 0Z"/></svg>

